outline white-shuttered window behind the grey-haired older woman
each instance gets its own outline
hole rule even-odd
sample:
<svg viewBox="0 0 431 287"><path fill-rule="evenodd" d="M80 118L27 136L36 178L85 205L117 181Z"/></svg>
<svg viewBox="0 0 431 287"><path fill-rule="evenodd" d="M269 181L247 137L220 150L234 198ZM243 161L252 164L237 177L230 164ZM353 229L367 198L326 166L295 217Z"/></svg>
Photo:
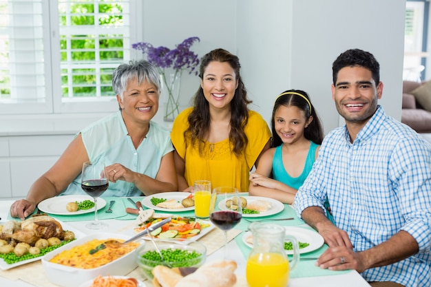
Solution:
<svg viewBox="0 0 431 287"><path fill-rule="evenodd" d="M0 114L115 110L138 2L0 0Z"/></svg>

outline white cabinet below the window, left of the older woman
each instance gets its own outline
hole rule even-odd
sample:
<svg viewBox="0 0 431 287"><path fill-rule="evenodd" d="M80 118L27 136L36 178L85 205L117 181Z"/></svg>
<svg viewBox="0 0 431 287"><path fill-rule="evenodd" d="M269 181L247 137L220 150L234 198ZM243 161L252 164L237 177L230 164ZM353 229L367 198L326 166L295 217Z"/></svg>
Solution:
<svg viewBox="0 0 431 287"><path fill-rule="evenodd" d="M24 198L74 138L72 134L0 136L0 200Z"/></svg>

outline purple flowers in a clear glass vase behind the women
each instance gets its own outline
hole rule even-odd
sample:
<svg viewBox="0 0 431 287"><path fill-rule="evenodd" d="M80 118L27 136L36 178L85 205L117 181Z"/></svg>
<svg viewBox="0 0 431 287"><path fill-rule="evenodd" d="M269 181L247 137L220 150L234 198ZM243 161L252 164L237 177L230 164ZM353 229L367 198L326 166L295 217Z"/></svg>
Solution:
<svg viewBox="0 0 431 287"><path fill-rule="evenodd" d="M165 112L165 120L174 120L179 114L178 98L180 96L180 81L182 71L186 70L191 74L198 74L196 67L199 65L198 55L190 50L190 47L196 41L200 41L198 37L190 37L176 45L175 49L169 50L167 47L154 47L150 43L140 42L132 44L132 48L142 51L147 56L147 61L154 65L162 76L162 83L167 87L168 100ZM167 80L167 68L174 70L170 81ZM176 95L174 95L174 85L176 87Z"/></svg>

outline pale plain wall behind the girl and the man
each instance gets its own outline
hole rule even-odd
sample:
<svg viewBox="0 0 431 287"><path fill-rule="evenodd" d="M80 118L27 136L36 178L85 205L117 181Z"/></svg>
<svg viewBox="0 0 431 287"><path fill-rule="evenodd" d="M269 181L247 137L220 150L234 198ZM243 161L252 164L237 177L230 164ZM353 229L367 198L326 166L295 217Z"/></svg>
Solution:
<svg viewBox="0 0 431 287"><path fill-rule="evenodd" d="M247 3L238 8L238 54L246 85L268 122L275 97L293 88L310 94L325 133L337 127L332 63L350 48L375 55L384 85L380 104L401 118L405 1L273 0L266 8L259 0Z"/></svg>

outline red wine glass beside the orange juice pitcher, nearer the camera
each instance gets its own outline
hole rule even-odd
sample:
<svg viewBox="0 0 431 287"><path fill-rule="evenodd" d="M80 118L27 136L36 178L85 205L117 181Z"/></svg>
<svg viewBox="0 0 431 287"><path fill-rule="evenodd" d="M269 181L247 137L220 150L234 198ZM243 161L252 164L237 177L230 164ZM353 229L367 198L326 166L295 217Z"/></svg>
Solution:
<svg viewBox="0 0 431 287"><path fill-rule="evenodd" d="M238 224L242 217L242 206L238 189L215 187L211 193L209 220L224 231L224 259L227 256L227 231Z"/></svg>

